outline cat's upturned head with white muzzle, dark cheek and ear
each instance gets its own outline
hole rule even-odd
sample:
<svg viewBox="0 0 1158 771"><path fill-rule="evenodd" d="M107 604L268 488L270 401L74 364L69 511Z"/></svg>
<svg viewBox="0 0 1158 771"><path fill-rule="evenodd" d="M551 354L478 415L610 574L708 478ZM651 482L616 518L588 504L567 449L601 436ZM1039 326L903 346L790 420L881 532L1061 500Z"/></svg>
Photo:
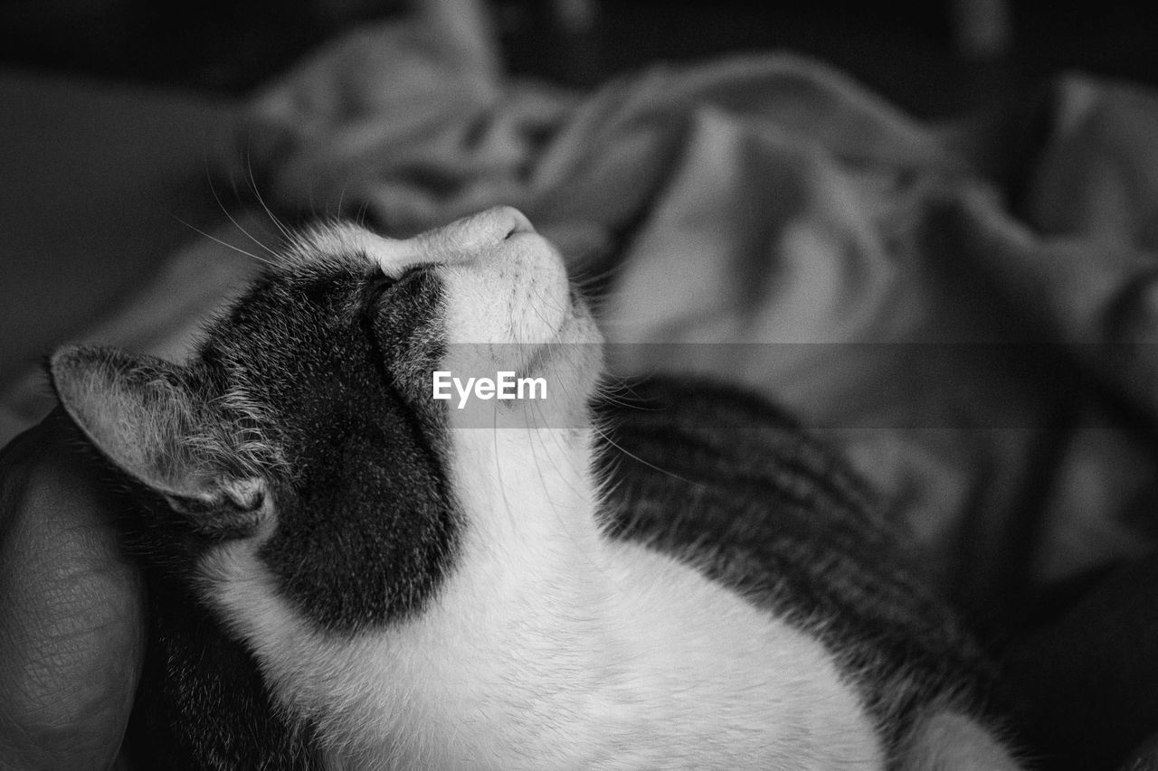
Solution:
<svg viewBox="0 0 1158 771"><path fill-rule="evenodd" d="M50 375L166 549L259 541L284 596L349 630L418 610L453 563L463 441L584 425L599 342L559 254L500 207L405 241L318 227L189 362L66 347ZM460 407L439 372L535 376L547 398Z"/></svg>

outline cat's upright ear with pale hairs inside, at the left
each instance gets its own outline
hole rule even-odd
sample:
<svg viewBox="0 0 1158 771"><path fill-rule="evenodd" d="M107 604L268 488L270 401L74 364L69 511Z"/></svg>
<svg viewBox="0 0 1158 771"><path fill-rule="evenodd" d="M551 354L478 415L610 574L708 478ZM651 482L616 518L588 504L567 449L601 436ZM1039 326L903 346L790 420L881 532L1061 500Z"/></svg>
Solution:
<svg viewBox="0 0 1158 771"><path fill-rule="evenodd" d="M264 480L227 468L222 420L214 420L210 398L183 367L116 348L71 346L52 355L49 374L89 441L177 511L205 515L262 506Z"/></svg>

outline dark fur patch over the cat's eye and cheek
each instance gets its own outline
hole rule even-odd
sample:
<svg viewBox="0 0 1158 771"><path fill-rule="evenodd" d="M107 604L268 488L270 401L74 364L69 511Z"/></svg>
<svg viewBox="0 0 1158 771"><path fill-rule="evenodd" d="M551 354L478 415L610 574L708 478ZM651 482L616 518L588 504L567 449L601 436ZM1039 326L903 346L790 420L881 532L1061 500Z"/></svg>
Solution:
<svg viewBox="0 0 1158 771"><path fill-rule="evenodd" d="M204 361L269 414L284 472L259 552L287 600L329 632L418 612L456 543L445 413L425 396L444 354L442 286L295 271L262 281ZM417 365L417 366L416 366Z"/></svg>

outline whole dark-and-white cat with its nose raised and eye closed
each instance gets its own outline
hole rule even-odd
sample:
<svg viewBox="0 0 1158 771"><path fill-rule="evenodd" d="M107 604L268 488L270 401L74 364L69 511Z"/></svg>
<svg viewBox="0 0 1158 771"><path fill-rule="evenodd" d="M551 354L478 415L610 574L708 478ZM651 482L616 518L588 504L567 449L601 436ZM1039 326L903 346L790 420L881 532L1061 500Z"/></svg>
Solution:
<svg viewBox="0 0 1158 771"><path fill-rule="evenodd" d="M1018 768L835 453L731 387L608 396L601 355L510 207L305 230L185 364L58 350L149 587L139 768Z"/></svg>

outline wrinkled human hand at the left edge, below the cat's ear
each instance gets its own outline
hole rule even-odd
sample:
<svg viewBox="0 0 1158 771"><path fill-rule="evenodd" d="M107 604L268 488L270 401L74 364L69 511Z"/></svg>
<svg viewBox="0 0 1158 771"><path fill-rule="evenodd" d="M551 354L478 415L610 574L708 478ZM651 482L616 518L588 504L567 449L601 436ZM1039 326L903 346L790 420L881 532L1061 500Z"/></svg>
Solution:
<svg viewBox="0 0 1158 771"><path fill-rule="evenodd" d="M107 769L145 652L113 498L60 410L0 449L0 770Z"/></svg>

